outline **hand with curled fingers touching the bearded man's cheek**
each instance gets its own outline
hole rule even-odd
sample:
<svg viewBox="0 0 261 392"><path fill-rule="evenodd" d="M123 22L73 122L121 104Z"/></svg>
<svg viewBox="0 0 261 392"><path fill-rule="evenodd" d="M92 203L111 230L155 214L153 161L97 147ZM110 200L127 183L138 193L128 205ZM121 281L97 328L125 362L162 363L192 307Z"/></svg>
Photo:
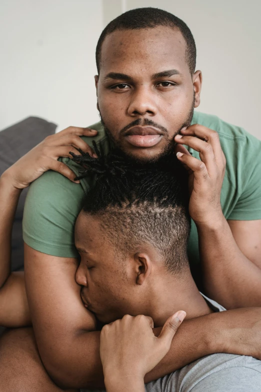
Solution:
<svg viewBox="0 0 261 392"><path fill-rule="evenodd" d="M202 125L180 131L174 141L177 158L188 170L189 214L195 224L207 224L222 216L220 193L225 173L225 156L218 133ZM199 152L192 157L182 144Z"/></svg>

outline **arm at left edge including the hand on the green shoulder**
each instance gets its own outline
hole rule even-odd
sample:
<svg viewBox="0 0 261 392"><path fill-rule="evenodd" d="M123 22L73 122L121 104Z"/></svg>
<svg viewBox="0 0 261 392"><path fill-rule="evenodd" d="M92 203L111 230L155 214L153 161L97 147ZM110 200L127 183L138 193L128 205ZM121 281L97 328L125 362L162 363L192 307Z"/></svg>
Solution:
<svg viewBox="0 0 261 392"><path fill-rule="evenodd" d="M95 131L96 132L96 131ZM58 171L74 182L75 174L59 156L69 157L73 147L93 153L79 136L89 136L90 130L69 128L44 139L0 177L0 325L20 327L30 324L23 272L11 273L11 230L22 189L48 169ZM93 134L93 132L92 132Z"/></svg>

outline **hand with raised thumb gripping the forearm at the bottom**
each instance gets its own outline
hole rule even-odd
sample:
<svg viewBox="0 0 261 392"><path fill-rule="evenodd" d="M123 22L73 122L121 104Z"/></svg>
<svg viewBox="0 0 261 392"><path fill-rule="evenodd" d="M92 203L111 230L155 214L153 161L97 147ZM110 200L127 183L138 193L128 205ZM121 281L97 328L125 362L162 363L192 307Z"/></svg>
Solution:
<svg viewBox="0 0 261 392"><path fill-rule="evenodd" d="M167 319L160 335L152 331L151 317L125 315L104 325L100 333L100 358L105 381L115 377L142 377L166 355L172 338L186 313L178 311Z"/></svg>

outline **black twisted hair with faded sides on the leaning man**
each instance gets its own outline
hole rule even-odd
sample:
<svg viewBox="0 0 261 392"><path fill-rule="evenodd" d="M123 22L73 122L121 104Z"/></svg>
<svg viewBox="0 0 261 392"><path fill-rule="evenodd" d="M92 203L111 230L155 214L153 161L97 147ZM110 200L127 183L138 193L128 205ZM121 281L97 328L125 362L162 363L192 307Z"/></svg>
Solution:
<svg viewBox="0 0 261 392"><path fill-rule="evenodd" d="M190 231L187 174L174 154L156 163L138 164L119 150L98 158L81 152L73 159L85 167L78 179L93 172L96 183L82 210L98 218L102 231L121 254L142 243L153 245L171 273L188 266Z"/></svg>

